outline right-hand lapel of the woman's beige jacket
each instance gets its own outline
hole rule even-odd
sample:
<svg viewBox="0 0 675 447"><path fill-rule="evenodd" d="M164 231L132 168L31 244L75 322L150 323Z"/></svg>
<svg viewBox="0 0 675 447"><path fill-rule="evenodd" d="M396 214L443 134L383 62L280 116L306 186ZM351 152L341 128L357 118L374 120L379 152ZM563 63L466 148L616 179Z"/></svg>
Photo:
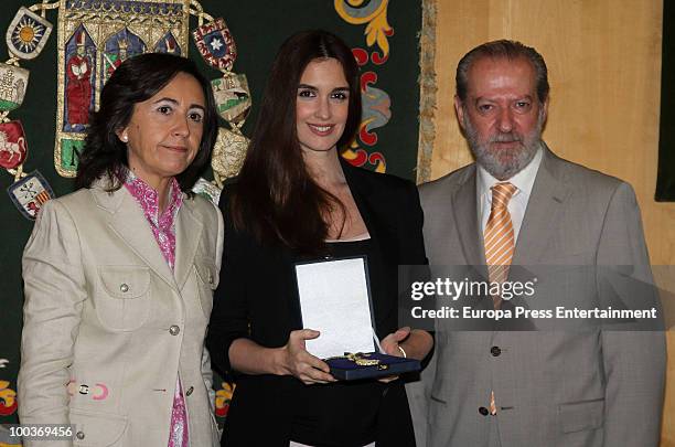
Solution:
<svg viewBox="0 0 675 447"><path fill-rule="evenodd" d="M191 205L190 199L184 199L175 221L174 276L179 290L183 289L185 280L188 280L204 228L202 222L192 213Z"/></svg>

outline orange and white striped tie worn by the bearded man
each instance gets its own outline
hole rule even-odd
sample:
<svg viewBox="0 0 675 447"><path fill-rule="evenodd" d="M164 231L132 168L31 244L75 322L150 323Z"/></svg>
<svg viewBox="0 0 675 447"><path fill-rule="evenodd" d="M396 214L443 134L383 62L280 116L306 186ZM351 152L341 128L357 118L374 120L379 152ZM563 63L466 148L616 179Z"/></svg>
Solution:
<svg viewBox="0 0 675 447"><path fill-rule="evenodd" d="M483 240L485 241L485 263L491 283L504 283L508 277L508 267L515 249L513 223L508 213L508 201L516 192L511 183L497 183L492 187L492 209L485 226ZM495 309L502 304L502 297L492 297ZM490 414L496 414L494 391L490 393Z"/></svg>

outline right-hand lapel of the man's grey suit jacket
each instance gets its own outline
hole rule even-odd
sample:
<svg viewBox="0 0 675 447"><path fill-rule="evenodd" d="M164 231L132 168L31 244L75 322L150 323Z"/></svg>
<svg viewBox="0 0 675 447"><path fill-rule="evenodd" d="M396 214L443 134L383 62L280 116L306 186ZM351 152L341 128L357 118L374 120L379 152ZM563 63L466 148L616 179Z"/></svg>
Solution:
<svg viewBox="0 0 675 447"><path fill-rule="evenodd" d="M545 147L521 225L513 265L536 264L547 249L548 238L556 231L557 222L560 222L569 188L560 180L558 167L558 160Z"/></svg>

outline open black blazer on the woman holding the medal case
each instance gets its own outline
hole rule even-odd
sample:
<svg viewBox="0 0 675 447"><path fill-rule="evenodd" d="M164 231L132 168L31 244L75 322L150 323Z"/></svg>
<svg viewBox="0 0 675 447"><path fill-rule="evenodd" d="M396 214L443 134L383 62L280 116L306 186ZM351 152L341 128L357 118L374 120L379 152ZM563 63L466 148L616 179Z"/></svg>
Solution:
<svg viewBox="0 0 675 447"><path fill-rule="evenodd" d="M383 259L384 292L373 296L375 330L382 339L398 327L397 266L426 263L422 212L413 183L344 162L343 170L371 242ZM225 217L224 265L207 336L213 364L221 371L231 370L227 352L234 340L247 337L260 345L278 348L287 343L292 330L302 329L293 273L293 264L302 258L285 247L260 246L246 232L236 231L229 219L228 201L225 193L221 199ZM377 416L383 421L378 423L383 429L377 430L381 447L414 445L405 390L398 382L376 383L377 397L382 398ZM372 391L373 383L368 386ZM299 405L297 397L303 389L307 385L292 376L239 375L223 445L288 446L294 406ZM364 397L373 398L373 394ZM356 407L360 403L352 405ZM397 432L397 427L407 427L407 433ZM345 427L345 436L349 429ZM387 440L385 435L390 438ZM363 445L357 439L334 443Z"/></svg>

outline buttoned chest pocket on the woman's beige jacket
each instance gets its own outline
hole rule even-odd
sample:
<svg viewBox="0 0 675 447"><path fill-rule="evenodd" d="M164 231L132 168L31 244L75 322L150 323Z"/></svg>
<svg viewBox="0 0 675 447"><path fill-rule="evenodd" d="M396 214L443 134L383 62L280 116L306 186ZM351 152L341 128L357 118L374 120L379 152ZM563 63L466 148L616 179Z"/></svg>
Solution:
<svg viewBox="0 0 675 447"><path fill-rule="evenodd" d="M113 330L140 328L150 312L150 269L146 266L98 267L100 292L94 297L96 315Z"/></svg>

